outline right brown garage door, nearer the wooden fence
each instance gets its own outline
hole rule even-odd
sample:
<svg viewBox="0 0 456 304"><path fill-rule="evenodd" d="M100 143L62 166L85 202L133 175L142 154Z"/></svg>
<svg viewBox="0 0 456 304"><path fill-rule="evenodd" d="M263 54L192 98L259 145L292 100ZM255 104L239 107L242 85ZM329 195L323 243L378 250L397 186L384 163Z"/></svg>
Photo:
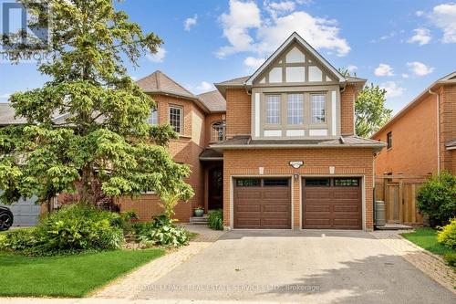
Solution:
<svg viewBox="0 0 456 304"><path fill-rule="evenodd" d="M358 178L314 178L303 183L303 228L362 228Z"/></svg>

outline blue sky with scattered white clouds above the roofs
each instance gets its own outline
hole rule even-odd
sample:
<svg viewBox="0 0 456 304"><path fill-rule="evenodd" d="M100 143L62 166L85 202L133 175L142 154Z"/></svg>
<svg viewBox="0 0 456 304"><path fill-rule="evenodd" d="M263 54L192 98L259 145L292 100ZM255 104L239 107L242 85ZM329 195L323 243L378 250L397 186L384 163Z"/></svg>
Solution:
<svg viewBox="0 0 456 304"><path fill-rule="evenodd" d="M140 79L156 69L194 93L254 72L293 31L335 67L388 89L395 112L456 70L456 2L416 0L126 0L117 3L159 54L129 67ZM0 102L45 79L32 63L0 62Z"/></svg>

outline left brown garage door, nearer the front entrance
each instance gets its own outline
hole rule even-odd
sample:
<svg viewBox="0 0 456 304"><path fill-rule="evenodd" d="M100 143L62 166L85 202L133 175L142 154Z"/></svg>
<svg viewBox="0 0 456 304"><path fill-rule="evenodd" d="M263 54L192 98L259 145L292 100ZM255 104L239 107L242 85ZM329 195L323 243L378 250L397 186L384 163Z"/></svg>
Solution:
<svg viewBox="0 0 456 304"><path fill-rule="evenodd" d="M291 228L288 178L238 178L233 196L234 228Z"/></svg>

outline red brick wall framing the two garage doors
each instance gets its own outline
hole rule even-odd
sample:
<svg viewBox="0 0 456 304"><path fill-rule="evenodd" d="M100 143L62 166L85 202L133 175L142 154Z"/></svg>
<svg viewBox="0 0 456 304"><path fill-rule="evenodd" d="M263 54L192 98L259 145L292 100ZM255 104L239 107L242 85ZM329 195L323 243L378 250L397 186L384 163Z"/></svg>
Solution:
<svg viewBox="0 0 456 304"><path fill-rule="evenodd" d="M294 169L290 161L304 161ZM233 175L257 175L264 167L264 175L274 174L327 174L335 166L335 174L365 176L366 227L372 229L373 152L371 149L276 149L276 150L227 150L223 154L223 225L230 223L230 189ZM300 227L300 182L293 181L293 210L295 227Z"/></svg>

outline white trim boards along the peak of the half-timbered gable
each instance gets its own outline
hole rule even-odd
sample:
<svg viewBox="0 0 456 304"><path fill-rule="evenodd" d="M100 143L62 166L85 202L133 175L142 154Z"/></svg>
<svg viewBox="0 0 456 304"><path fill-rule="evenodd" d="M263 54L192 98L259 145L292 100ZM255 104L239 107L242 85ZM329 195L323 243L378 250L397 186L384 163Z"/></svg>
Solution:
<svg viewBox="0 0 456 304"><path fill-rule="evenodd" d="M254 83L254 80L257 79L261 74L262 72L268 68L274 61L275 59L280 56L282 54L282 52L289 46L291 46L291 44L293 44L294 42L297 42L299 43L302 47L304 47L310 54L312 54L318 61L320 61L320 63L327 69L329 69L338 79L339 82L345 82L347 81L347 79L342 75L340 74L340 72L337 70L337 68L334 68L325 58L323 58L317 51L314 47L312 47L311 45L309 45L306 40L304 40L303 37L299 36L299 34L297 34L296 32L294 32L292 35L290 35L290 37L288 37L285 42L280 46L278 47L275 52L273 53L273 55L271 55L269 58L267 58L267 60L264 62L263 65L261 65L260 68L258 68L254 74L245 81L245 84L247 86L252 86L252 84Z"/></svg>

